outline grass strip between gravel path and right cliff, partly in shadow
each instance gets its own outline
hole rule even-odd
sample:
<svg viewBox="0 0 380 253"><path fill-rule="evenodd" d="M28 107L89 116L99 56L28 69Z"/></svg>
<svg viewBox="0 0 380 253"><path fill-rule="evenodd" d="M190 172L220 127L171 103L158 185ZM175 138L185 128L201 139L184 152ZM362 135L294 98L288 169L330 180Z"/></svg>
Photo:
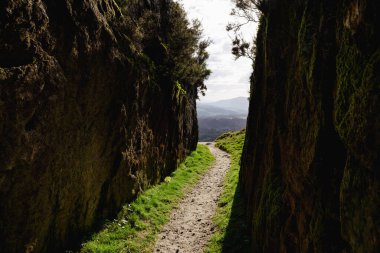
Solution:
<svg viewBox="0 0 380 253"><path fill-rule="evenodd" d="M238 186L244 136L245 131L240 131L223 134L216 140L216 146L231 155L231 168L213 219L217 228L206 247L207 253L251 252L245 206Z"/></svg>

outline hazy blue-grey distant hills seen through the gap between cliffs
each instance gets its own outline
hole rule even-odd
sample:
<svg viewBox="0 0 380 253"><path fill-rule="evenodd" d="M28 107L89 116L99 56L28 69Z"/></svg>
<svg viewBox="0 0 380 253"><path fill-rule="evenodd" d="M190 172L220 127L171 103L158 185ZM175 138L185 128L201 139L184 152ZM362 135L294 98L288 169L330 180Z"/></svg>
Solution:
<svg viewBox="0 0 380 253"><path fill-rule="evenodd" d="M225 132L245 128L248 105L246 97L198 102L199 140L213 141Z"/></svg>

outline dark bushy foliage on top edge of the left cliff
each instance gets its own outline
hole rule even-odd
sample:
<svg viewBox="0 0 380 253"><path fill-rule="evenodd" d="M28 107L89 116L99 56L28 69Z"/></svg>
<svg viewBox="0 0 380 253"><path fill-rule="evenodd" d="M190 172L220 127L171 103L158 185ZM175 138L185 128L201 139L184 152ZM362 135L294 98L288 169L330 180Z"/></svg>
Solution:
<svg viewBox="0 0 380 253"><path fill-rule="evenodd" d="M206 65L210 41L202 39L200 21L189 22L182 6L174 1L167 1L159 12L149 11L148 1L117 3L132 28L128 31L130 43L140 60L165 79L168 87L176 89L179 83L190 95L204 95L204 81L211 74Z"/></svg>

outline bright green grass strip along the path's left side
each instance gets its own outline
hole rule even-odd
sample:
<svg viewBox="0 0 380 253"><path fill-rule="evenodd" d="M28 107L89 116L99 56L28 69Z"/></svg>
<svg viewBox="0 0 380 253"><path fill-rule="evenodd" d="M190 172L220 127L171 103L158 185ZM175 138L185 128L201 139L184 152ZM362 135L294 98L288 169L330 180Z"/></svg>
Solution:
<svg viewBox="0 0 380 253"><path fill-rule="evenodd" d="M209 149L198 145L165 181L123 207L118 219L86 242L81 252L152 252L156 236L169 221L172 209L214 161Z"/></svg>

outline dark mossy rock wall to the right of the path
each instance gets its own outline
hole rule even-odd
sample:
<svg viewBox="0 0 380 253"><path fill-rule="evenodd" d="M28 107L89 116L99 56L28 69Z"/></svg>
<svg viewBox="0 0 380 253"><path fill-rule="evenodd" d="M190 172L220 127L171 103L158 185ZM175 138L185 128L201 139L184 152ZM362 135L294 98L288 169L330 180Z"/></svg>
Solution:
<svg viewBox="0 0 380 253"><path fill-rule="evenodd" d="M253 250L380 252L379 2L271 3L242 156Z"/></svg>

